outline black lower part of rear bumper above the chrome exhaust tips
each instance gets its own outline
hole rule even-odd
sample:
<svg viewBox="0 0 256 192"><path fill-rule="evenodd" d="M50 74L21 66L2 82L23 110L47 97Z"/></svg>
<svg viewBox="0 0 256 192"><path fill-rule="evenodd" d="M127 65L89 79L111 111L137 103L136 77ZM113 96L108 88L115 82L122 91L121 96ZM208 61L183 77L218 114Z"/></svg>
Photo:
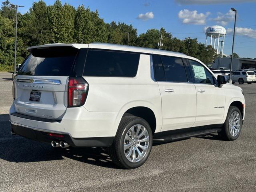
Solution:
<svg viewBox="0 0 256 192"><path fill-rule="evenodd" d="M29 138L32 140L50 143L51 141L65 141L72 147L107 147L111 146L114 137L92 137L92 138L73 138L68 133L55 132L61 134L64 137L59 138L55 136L49 136L49 133L45 130L38 130L34 128L28 128L11 122L11 131L13 134L18 134L22 137Z"/></svg>

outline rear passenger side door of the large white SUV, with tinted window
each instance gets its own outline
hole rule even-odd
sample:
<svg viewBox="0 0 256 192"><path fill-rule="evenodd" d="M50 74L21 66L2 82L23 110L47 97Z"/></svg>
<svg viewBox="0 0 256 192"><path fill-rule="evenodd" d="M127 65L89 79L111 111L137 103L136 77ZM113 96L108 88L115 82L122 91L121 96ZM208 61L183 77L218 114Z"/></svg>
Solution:
<svg viewBox="0 0 256 192"><path fill-rule="evenodd" d="M196 118L196 90L182 58L153 55L162 98L162 130L191 127Z"/></svg>

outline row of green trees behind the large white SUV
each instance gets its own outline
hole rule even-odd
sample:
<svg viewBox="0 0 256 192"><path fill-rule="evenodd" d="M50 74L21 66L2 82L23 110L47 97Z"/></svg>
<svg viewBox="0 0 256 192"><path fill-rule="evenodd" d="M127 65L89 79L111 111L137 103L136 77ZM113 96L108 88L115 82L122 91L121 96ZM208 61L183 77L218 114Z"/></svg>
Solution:
<svg viewBox="0 0 256 192"><path fill-rule="evenodd" d="M2 2L0 9L0 64L13 65L15 40L15 8L9 1ZM22 63L28 55L29 46L49 43L91 43L106 42L127 44L146 48L158 48L161 33L162 49L184 53L198 58L204 63L210 63L216 57L216 50L198 43L196 38L180 40L164 28L149 29L137 34L137 29L131 24L121 22L105 23L99 17L98 10L91 11L80 5L77 8L69 4L61 4L56 0L47 6L43 0L34 2L30 10L24 14L18 13L17 64Z"/></svg>

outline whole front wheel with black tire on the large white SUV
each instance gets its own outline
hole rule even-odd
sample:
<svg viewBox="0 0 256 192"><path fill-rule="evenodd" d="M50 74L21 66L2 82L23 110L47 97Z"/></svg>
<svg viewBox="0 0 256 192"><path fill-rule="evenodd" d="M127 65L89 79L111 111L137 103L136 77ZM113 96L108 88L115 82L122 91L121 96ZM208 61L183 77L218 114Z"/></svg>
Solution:
<svg viewBox="0 0 256 192"><path fill-rule="evenodd" d="M233 116L234 114L234 116ZM238 117L236 118L236 115L238 115ZM238 121L238 119L240 119ZM236 121L238 121L237 123L235 123ZM236 126L229 126L229 124L235 123ZM224 138L224 140L236 140L240 133L241 133L241 129L242 129L242 114L240 112L240 110L235 107L235 106L230 106L228 109L228 115L226 118L226 121L224 122L223 126L222 126L222 130L221 132L218 132L218 135L222 136L222 138ZM233 130L233 132L232 132ZM237 133L236 133L237 131Z"/></svg>

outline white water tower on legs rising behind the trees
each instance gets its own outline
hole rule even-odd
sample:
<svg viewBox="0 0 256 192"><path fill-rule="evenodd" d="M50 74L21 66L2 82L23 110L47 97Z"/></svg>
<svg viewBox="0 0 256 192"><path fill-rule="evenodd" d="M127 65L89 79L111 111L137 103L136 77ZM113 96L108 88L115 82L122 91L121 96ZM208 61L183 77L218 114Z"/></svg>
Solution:
<svg viewBox="0 0 256 192"><path fill-rule="evenodd" d="M217 53L219 53L219 42L220 42L220 37L222 37L222 41L223 43L220 46L220 54L221 57L223 55L223 47L224 47L224 40L225 40L225 35L226 35L226 29L222 26L219 25L214 25L214 26L210 26L206 29L206 39L205 39L205 46L207 46L207 38L208 36L211 38L210 40L210 45L212 45L212 40L214 39L214 45L213 48L215 49L215 43L216 43L216 39L217 40Z"/></svg>

